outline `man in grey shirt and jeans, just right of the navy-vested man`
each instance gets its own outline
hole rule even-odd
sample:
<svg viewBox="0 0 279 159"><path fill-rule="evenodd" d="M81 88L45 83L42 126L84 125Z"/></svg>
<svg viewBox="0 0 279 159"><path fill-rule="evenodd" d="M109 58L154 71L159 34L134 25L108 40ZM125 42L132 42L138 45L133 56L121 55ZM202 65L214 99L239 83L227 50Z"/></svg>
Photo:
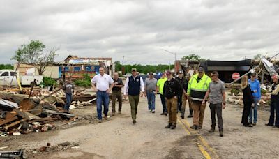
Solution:
<svg viewBox="0 0 279 159"><path fill-rule="evenodd" d="M153 73L149 73L149 78L144 82L144 90L148 100L149 112L155 113L155 96L156 96L157 79L153 77Z"/></svg>

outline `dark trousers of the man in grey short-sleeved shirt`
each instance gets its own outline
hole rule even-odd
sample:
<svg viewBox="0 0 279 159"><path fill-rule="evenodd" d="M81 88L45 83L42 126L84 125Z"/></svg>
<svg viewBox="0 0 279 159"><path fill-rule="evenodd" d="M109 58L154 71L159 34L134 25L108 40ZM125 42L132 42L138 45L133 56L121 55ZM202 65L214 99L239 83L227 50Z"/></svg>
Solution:
<svg viewBox="0 0 279 159"><path fill-rule="evenodd" d="M210 103L209 107L210 107L211 121L212 121L211 128L215 129L216 126L215 114L217 113L218 128L219 130L223 130L222 103L218 103L218 104Z"/></svg>

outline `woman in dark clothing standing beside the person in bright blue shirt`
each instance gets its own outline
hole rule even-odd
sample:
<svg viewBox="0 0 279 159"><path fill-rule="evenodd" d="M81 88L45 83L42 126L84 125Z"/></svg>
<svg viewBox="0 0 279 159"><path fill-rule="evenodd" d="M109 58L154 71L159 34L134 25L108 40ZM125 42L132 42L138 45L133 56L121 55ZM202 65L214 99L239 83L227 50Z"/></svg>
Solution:
<svg viewBox="0 0 279 159"><path fill-rule="evenodd" d="M248 116L250 114L250 109L254 101L252 97L252 91L250 89L250 86L248 85L247 75L241 79L241 89L243 92L243 104L244 104L241 123L243 124L243 126L252 127L252 125L248 123Z"/></svg>

